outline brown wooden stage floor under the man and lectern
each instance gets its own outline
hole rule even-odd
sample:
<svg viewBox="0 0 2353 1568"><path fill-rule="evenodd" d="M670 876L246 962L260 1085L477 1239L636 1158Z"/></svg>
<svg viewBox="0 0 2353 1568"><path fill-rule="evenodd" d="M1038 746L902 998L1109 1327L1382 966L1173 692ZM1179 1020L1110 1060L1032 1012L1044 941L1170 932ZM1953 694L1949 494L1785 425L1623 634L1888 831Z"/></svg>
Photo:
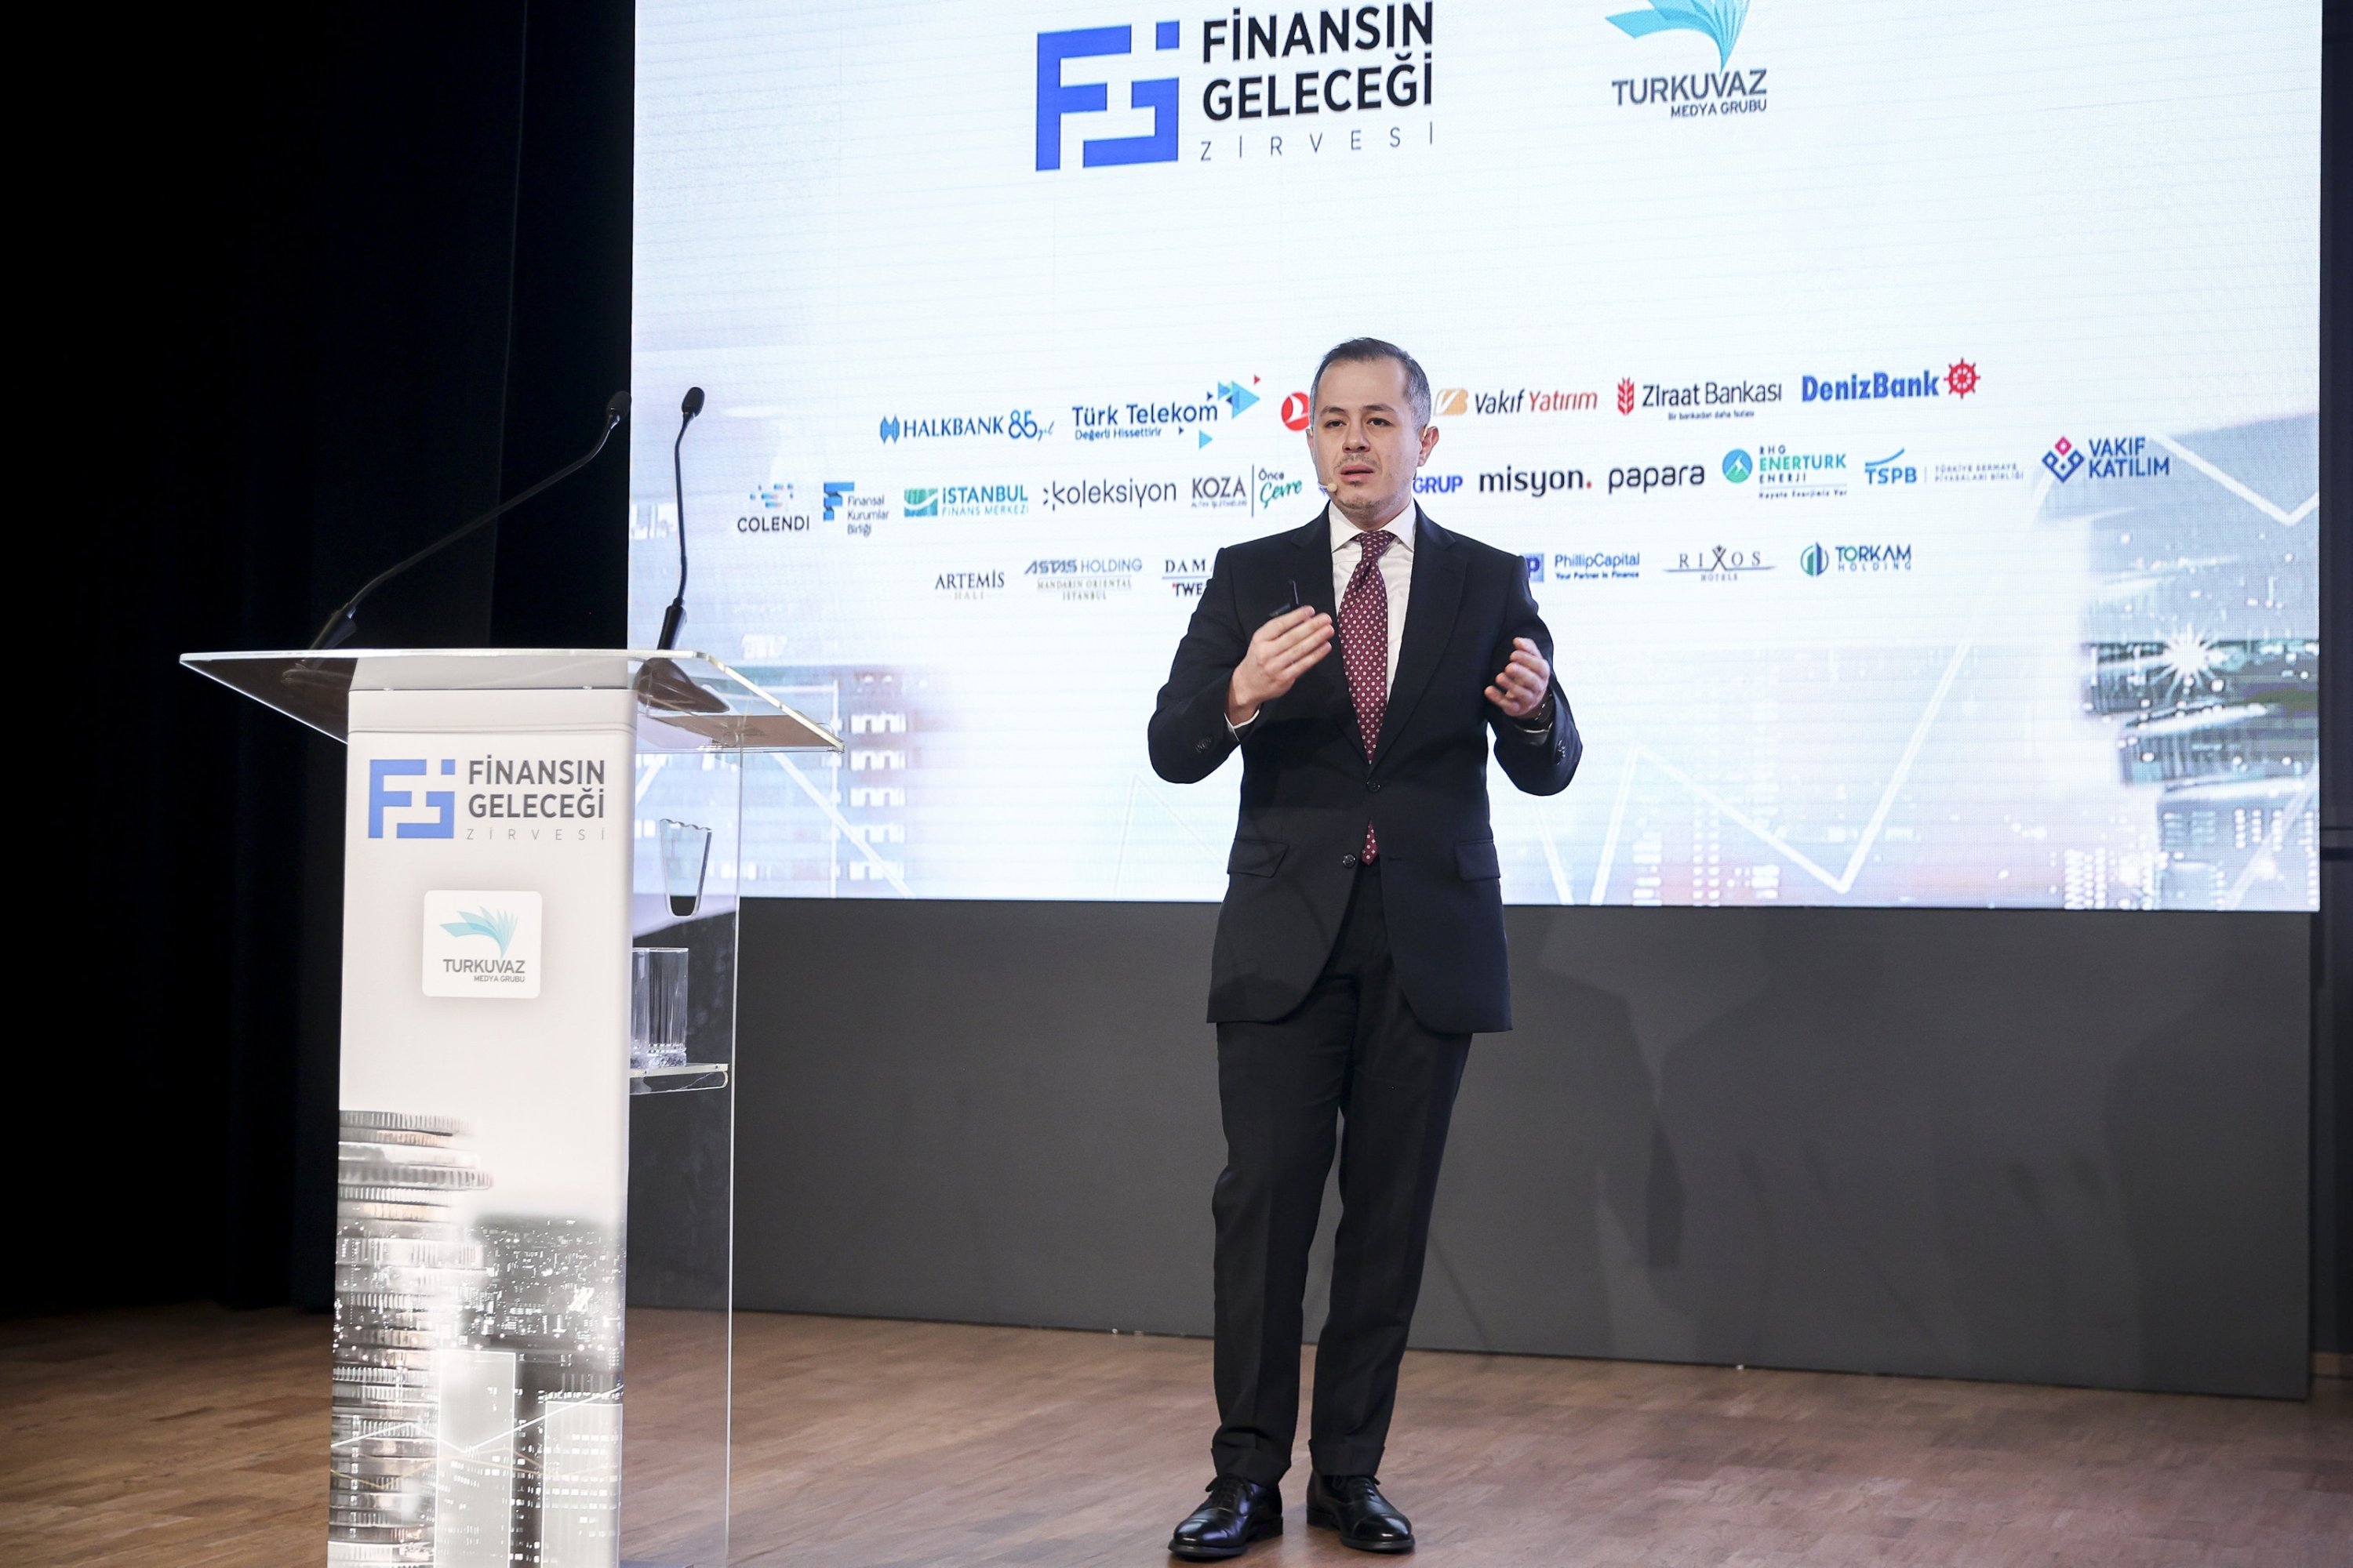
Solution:
<svg viewBox="0 0 2353 1568"><path fill-rule="evenodd" d="M1160 1566L1209 1347L748 1314L736 1563ZM325 1561L327 1324L0 1324L9 1563ZM1301 1458L1306 1443L1301 1441ZM1304 1528L1245 1561L1365 1563ZM1384 1483L1421 1563L2353 1563L2353 1385L2308 1403L1414 1354Z"/></svg>

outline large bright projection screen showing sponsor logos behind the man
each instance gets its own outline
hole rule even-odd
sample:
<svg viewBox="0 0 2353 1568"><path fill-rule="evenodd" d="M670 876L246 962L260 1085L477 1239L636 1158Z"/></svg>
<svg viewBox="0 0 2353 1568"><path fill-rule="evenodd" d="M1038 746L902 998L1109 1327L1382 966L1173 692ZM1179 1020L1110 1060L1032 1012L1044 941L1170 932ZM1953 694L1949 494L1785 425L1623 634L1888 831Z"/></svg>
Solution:
<svg viewBox="0 0 2353 1568"><path fill-rule="evenodd" d="M1217 898L1144 722L1372 334L1586 736L1506 898L2311 910L2318 146L2318 0L642 0L633 642L704 386L682 644L849 743L746 891Z"/></svg>

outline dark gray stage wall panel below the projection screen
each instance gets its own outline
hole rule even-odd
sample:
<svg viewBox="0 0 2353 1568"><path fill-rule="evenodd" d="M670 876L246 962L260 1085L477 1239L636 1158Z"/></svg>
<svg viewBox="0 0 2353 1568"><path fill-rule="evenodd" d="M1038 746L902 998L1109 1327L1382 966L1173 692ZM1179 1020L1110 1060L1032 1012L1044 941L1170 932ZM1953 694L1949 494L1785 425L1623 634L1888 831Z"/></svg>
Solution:
<svg viewBox="0 0 2353 1568"><path fill-rule="evenodd" d="M1207 1333L1214 919L751 903L739 1300ZM1511 910L1414 1342L2301 1396L2308 929Z"/></svg>

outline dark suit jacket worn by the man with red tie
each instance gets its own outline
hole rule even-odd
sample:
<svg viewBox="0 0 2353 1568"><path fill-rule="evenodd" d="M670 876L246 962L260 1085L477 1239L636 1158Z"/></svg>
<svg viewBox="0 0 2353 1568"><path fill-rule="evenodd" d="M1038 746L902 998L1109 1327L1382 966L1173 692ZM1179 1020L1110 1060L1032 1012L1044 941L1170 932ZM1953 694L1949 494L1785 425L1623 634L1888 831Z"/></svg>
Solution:
<svg viewBox="0 0 2353 1568"><path fill-rule="evenodd" d="M1219 550L1176 646L1151 722L1153 771L1195 783L1242 750L1212 1023L1275 1020L1306 999L1339 936L1372 823L1388 947L1414 1016L1449 1034L1511 1027L1504 872L1487 820L1489 731L1504 773L1529 795L1565 790L1584 743L1558 677L1546 733L1532 736L1485 696L1513 637L1553 658L1527 564L1447 534L1419 505L1414 527L1405 639L1369 766L1337 646L1266 703L1240 743L1226 729L1226 682L1259 625L1294 602L1294 588L1299 604L1334 611L1325 512Z"/></svg>

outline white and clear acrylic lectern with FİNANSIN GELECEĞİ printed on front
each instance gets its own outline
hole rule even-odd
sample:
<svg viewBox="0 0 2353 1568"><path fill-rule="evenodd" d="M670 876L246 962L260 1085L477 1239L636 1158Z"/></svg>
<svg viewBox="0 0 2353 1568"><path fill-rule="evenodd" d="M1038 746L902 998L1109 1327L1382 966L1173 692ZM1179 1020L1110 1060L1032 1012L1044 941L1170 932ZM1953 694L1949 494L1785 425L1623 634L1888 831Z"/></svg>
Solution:
<svg viewBox="0 0 2353 1568"><path fill-rule="evenodd" d="M327 1561L727 1559L744 755L706 654L184 663L348 745Z"/></svg>

